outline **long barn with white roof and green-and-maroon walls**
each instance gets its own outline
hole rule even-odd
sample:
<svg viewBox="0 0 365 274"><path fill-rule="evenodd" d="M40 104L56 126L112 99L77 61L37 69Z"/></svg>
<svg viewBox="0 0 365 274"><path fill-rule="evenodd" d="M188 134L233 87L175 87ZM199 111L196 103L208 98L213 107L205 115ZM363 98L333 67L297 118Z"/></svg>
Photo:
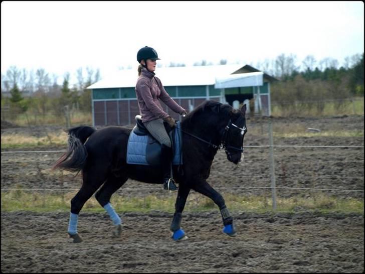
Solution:
<svg viewBox="0 0 365 274"><path fill-rule="evenodd" d="M192 110L205 100L242 103L255 99L255 112L269 116L270 82L274 77L249 65L217 65L156 68L156 76L168 94L182 107ZM93 125L133 124L139 114L135 95L136 69L120 70L88 89L92 90ZM173 118L179 115L161 102Z"/></svg>

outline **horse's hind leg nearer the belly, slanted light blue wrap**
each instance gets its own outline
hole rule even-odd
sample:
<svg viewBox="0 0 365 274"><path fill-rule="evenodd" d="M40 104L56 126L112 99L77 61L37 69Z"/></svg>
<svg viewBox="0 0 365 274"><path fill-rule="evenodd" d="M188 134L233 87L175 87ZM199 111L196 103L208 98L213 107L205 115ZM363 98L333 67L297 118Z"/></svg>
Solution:
<svg viewBox="0 0 365 274"><path fill-rule="evenodd" d="M127 179L128 179L127 176L115 177L114 175L110 175L106 180L106 182L104 183L104 185L95 194L96 200L109 214L110 219L113 221L113 224L115 225L115 229L113 231L114 237L120 237L122 232L122 225L120 217L115 212L113 206L110 203L110 198L115 191L117 191L122 185L124 185Z"/></svg>

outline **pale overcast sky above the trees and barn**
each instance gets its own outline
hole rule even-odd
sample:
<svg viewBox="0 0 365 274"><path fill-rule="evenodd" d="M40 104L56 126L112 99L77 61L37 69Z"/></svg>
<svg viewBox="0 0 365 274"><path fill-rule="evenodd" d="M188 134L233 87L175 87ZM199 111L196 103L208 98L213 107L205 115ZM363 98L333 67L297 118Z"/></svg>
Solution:
<svg viewBox="0 0 365 274"><path fill-rule="evenodd" d="M307 55L342 64L362 54L363 22L362 2L5 1L1 70L44 68L76 79L76 70L88 66L103 77L136 68L144 46L157 51L163 66L256 64L280 54L295 54L298 65Z"/></svg>

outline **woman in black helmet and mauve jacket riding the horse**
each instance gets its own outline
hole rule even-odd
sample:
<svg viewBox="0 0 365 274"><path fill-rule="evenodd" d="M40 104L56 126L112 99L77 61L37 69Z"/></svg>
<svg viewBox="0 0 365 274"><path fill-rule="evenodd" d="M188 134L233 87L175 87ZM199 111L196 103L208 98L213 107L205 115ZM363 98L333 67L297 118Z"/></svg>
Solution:
<svg viewBox="0 0 365 274"><path fill-rule="evenodd" d="M149 133L161 144L161 165L163 172L163 188L177 190L170 178L171 160L173 156L170 138L163 125L166 121L173 128L175 120L163 111L159 99L171 110L179 114L186 114L186 110L179 106L165 91L161 80L155 77L156 60L160 60L157 52L151 47L143 47L137 52L138 79L135 86L142 123Z"/></svg>

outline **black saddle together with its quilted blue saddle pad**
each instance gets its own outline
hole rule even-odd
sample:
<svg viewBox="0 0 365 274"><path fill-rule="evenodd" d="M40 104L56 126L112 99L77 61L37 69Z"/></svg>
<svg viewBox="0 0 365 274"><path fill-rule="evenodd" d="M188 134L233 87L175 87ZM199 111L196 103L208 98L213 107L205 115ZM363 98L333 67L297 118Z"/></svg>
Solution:
<svg viewBox="0 0 365 274"><path fill-rule="evenodd" d="M127 145L127 164L159 166L161 163L161 145L153 138L147 128L142 123L141 115L135 116L136 125L133 127L128 139ZM164 122L166 132L168 133L173 151L172 165L181 165L181 130L179 122L172 130Z"/></svg>

